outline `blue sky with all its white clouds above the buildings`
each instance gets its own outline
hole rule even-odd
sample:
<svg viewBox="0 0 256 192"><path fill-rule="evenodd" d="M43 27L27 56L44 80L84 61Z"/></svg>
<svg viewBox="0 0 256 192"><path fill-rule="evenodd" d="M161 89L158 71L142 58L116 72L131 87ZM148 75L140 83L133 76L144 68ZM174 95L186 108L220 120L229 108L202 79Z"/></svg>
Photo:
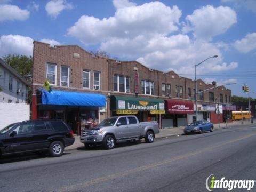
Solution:
<svg viewBox="0 0 256 192"><path fill-rule="evenodd" d="M0 57L76 44L194 79L218 55L197 77L256 98L255 21L255 0L0 0Z"/></svg>

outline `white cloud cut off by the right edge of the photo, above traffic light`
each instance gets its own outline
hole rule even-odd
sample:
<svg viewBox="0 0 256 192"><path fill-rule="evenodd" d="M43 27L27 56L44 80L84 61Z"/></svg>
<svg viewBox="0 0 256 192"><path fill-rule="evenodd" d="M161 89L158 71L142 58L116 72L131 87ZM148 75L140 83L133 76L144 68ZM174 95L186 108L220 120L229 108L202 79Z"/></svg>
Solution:
<svg viewBox="0 0 256 192"><path fill-rule="evenodd" d="M242 53L248 53L256 49L256 33L247 34L241 40L233 43L235 49Z"/></svg>

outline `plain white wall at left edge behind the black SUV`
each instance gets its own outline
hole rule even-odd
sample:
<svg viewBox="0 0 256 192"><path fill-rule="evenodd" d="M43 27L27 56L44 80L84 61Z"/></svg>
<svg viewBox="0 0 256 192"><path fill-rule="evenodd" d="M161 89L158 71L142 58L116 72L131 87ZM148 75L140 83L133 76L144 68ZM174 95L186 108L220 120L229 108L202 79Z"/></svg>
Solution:
<svg viewBox="0 0 256 192"><path fill-rule="evenodd" d="M25 103L0 103L0 129L25 120L29 120L29 105Z"/></svg>

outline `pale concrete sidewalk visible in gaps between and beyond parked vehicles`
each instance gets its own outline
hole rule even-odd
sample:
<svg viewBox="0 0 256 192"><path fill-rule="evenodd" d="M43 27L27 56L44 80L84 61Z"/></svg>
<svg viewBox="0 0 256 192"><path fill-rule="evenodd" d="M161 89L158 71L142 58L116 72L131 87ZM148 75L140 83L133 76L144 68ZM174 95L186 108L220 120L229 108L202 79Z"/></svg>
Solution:
<svg viewBox="0 0 256 192"><path fill-rule="evenodd" d="M256 119L254 119L254 123ZM247 124L251 124L250 120L245 120L244 121L244 125ZM226 127L231 127L231 126L235 126L235 125L242 125L242 121L234 121L232 123L220 123L220 129L225 129ZM169 128L169 129L160 129L160 133L156 134L156 139L157 138L166 138L166 137L171 137L171 136L175 136L175 135L182 135L183 134L183 129L185 126L180 126L180 127L175 127L175 128ZM219 124L214 124L214 130L218 130L219 129ZM77 149L78 147L84 147L84 144L80 142L80 137L75 135L75 142L73 145L68 146L65 148L65 150L71 150L71 149Z"/></svg>

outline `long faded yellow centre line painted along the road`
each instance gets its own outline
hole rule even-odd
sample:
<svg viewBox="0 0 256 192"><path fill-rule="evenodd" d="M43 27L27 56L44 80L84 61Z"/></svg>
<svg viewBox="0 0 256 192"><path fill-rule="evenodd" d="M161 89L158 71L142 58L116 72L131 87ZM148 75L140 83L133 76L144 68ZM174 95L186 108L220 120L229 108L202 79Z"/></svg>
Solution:
<svg viewBox="0 0 256 192"><path fill-rule="evenodd" d="M174 162L174 161L178 161L178 160L183 159L183 158L187 158L187 157L190 157L190 156L193 156L193 155L197 155L199 153L203 153L204 151L210 151L211 149L222 147L223 145L228 145L230 143L234 143L234 142L237 142L237 141L240 141L240 140L243 140L243 139L255 136L255 135L256 134L245 135L243 137L239 137L237 139L234 139L234 140L231 140L231 141L228 141L228 142L225 142L225 143L220 143L219 145L214 145L214 146L207 147L207 148L204 148L204 149L201 149L201 150L197 150L195 152L191 152L191 153L186 154L186 155L179 155L177 157L172 157L172 158L166 159L166 160L161 161L161 162L157 162L157 163L153 163L153 164L149 164L149 165L145 165L145 166L140 166L140 167L135 167L134 169L114 173L114 174L111 174L111 175L106 175L106 176L103 176L103 177L98 177L98 178L95 178L95 179L92 179L92 180L89 180L89 181L85 181L83 183L76 183L76 184L73 184L73 185L65 186L65 187L60 188L59 191L77 191L77 188L86 189L86 187L89 187L89 186L92 186L92 185L95 185L95 184L98 184L98 183L106 182L106 181L116 179L116 178L121 178L121 177L124 177L126 175L129 175L129 174L132 174L132 173L135 173L135 172L140 172L140 171L145 171L145 170L148 170L148 169L152 169L152 168L157 167L157 166L161 166L161 165L168 164L168 163L171 163L171 162Z"/></svg>

